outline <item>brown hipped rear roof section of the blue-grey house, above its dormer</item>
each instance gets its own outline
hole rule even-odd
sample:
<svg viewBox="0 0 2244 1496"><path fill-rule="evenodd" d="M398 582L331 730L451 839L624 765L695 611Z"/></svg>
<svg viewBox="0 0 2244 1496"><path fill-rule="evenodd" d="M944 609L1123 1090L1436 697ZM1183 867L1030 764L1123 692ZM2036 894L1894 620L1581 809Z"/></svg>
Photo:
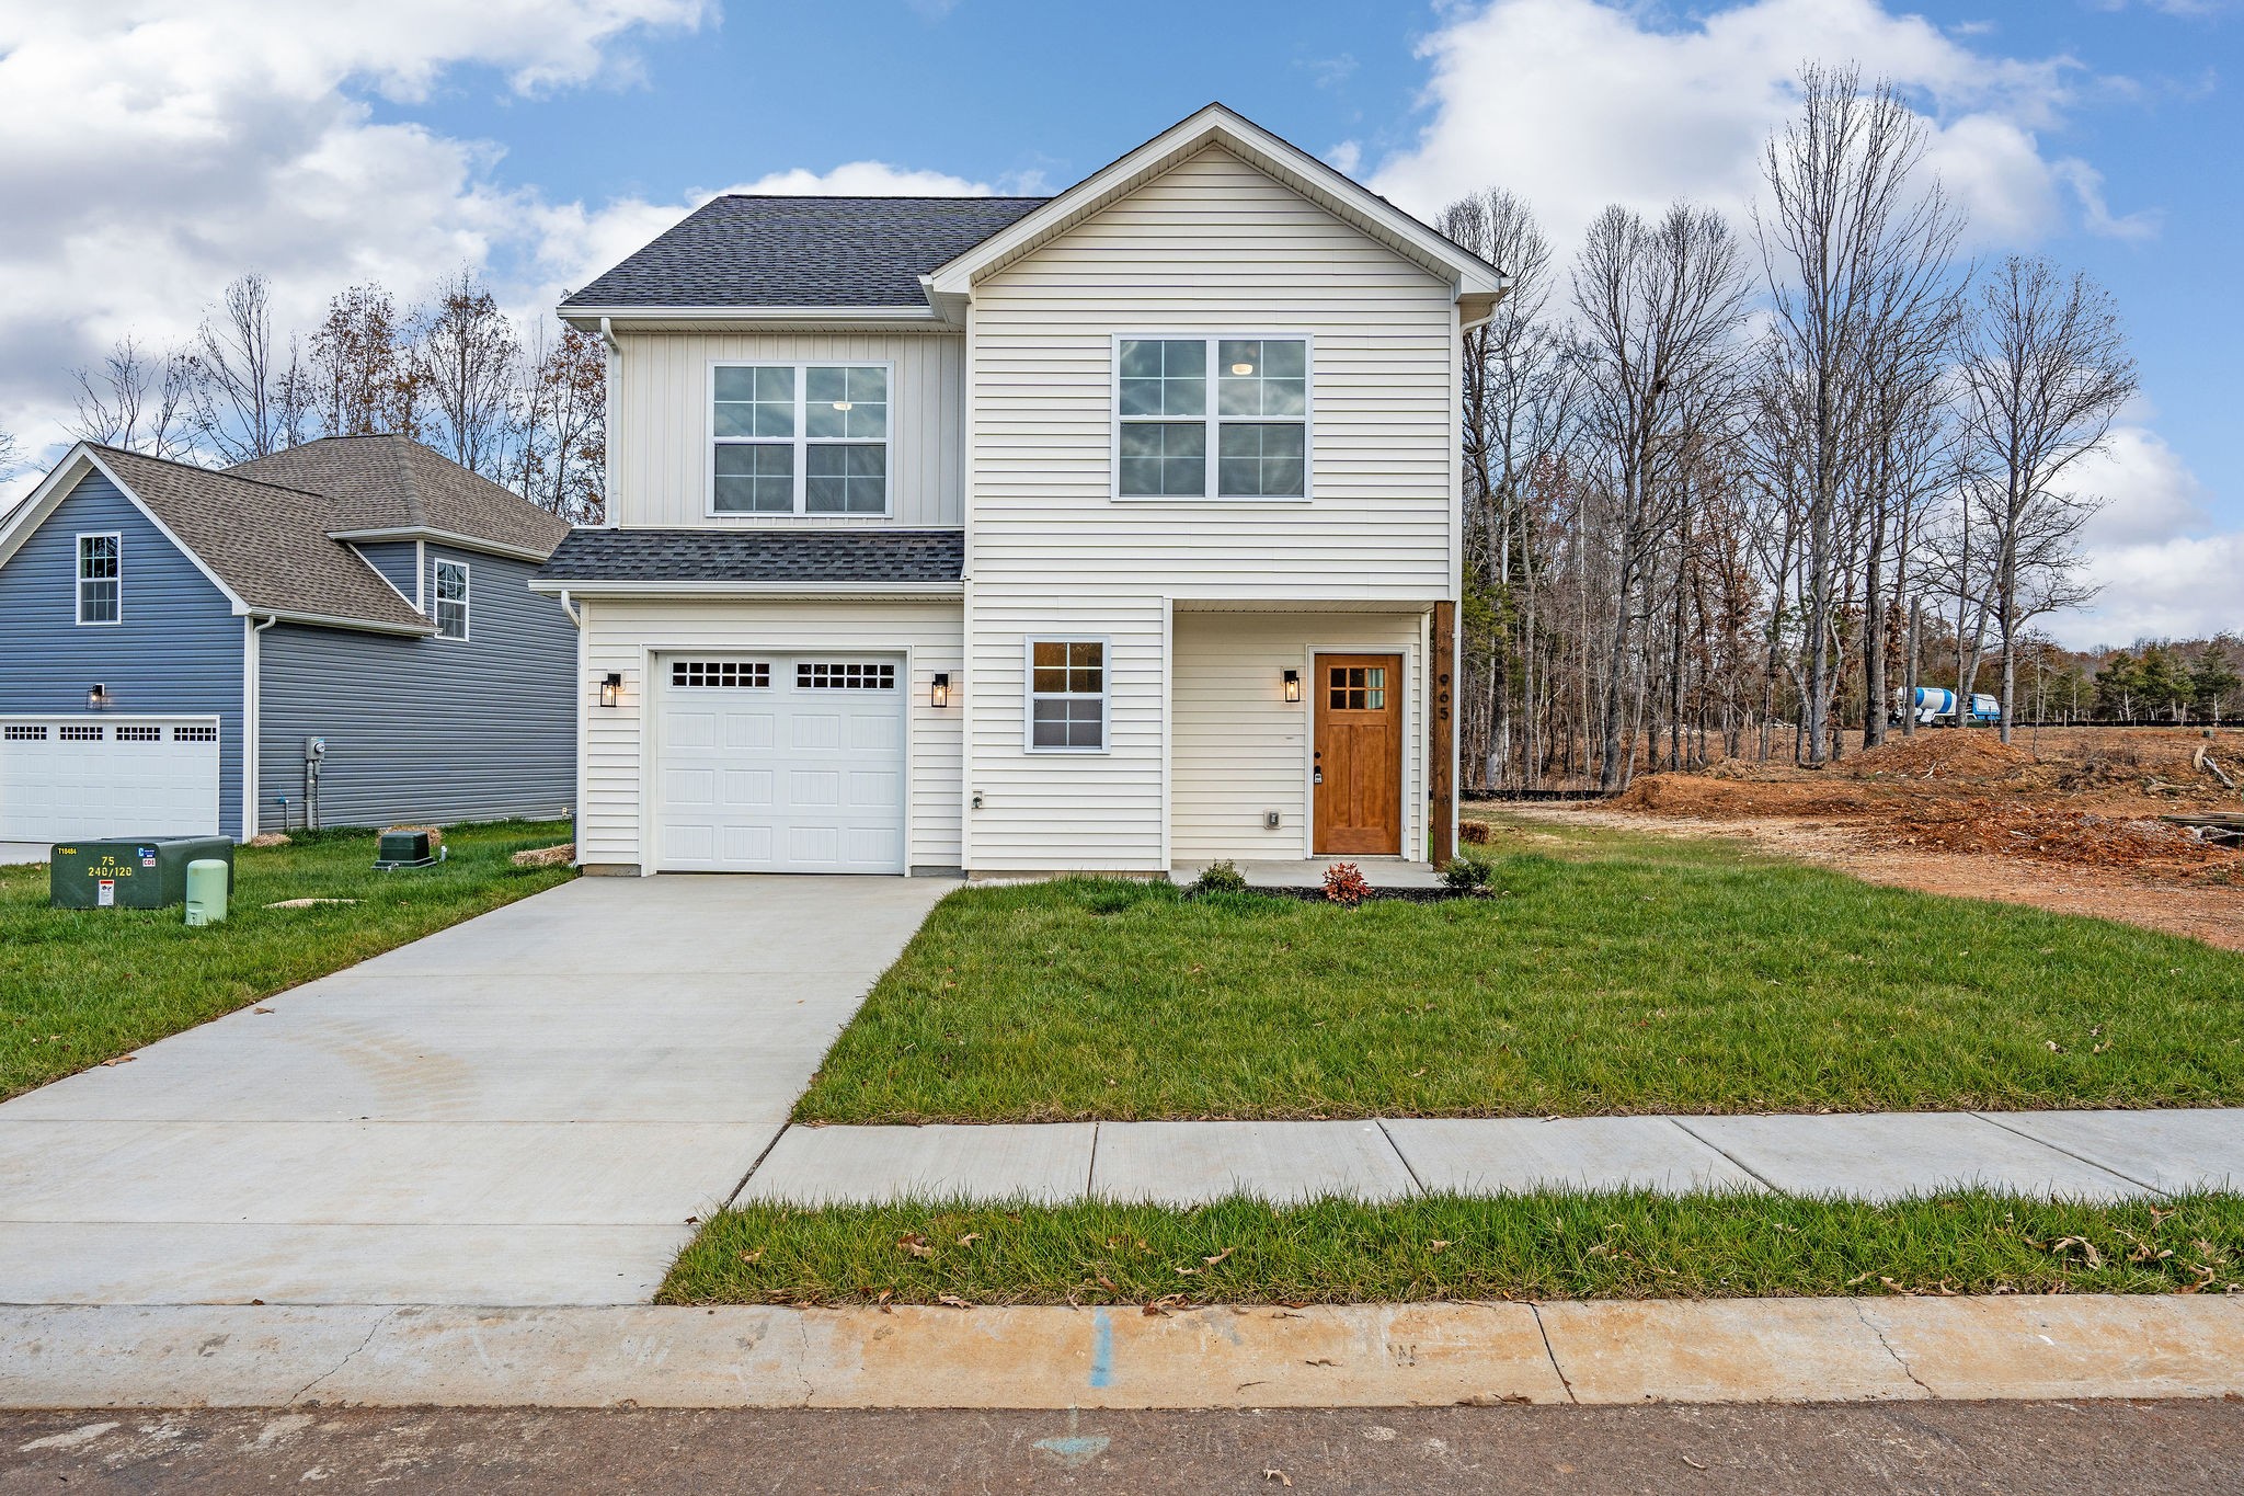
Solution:
<svg viewBox="0 0 2244 1496"><path fill-rule="evenodd" d="M568 520L413 437L321 437L227 469L332 500L323 529L440 529L444 534L552 552Z"/></svg>

